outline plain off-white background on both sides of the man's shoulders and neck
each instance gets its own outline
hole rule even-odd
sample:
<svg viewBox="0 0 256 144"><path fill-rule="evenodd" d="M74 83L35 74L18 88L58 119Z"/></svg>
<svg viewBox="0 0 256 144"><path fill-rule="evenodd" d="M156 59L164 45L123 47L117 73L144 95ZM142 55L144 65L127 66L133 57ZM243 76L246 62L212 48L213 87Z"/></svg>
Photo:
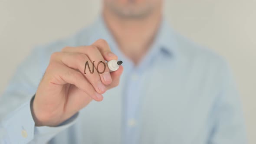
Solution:
<svg viewBox="0 0 256 144"><path fill-rule="evenodd" d="M230 62L240 90L249 144L256 144L256 0L166 0L174 29ZM92 23L101 0L0 0L0 93L37 45Z"/></svg>

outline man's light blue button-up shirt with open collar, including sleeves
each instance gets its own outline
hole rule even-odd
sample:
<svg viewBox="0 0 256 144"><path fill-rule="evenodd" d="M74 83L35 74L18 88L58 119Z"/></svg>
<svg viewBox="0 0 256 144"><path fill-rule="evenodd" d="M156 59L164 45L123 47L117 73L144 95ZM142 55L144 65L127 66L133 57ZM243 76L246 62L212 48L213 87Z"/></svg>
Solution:
<svg viewBox="0 0 256 144"><path fill-rule="evenodd" d="M56 127L35 127L30 100L65 46L105 39L122 60L118 87ZM102 18L67 39L33 49L0 98L3 144L246 144L239 96L227 62L161 23L138 66L119 49Z"/></svg>

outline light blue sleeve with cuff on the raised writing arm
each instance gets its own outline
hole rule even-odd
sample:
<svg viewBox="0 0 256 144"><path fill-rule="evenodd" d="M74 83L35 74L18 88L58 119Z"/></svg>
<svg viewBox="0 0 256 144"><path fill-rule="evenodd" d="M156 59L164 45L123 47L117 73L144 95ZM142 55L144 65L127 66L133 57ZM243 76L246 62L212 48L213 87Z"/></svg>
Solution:
<svg viewBox="0 0 256 144"><path fill-rule="evenodd" d="M35 127L30 100L48 65L50 56L45 52L44 48L33 49L0 96L0 144L45 144L75 123L78 114L57 127Z"/></svg>

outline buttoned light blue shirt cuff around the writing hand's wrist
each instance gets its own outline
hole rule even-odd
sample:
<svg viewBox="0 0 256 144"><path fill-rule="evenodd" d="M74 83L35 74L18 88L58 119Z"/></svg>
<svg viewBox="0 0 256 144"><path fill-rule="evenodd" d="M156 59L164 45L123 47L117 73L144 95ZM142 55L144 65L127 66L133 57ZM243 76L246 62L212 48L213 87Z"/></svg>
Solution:
<svg viewBox="0 0 256 144"><path fill-rule="evenodd" d="M33 100L33 98L32 98ZM68 128L76 122L79 115L77 112L68 120L56 127L41 126L35 127L35 122L30 110L30 101L10 113L0 123L5 131L4 141L11 144L45 144L56 134Z"/></svg>

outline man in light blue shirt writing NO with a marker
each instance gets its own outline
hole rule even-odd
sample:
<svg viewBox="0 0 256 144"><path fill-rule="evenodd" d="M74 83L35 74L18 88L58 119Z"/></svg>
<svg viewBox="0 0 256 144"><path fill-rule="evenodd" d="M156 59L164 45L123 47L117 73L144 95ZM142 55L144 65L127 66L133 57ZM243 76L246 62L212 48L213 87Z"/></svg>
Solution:
<svg viewBox="0 0 256 144"><path fill-rule="evenodd" d="M104 0L92 26L34 49L1 97L0 141L245 144L228 65L174 33L162 7L162 0ZM84 73L85 62L112 59L123 66Z"/></svg>

